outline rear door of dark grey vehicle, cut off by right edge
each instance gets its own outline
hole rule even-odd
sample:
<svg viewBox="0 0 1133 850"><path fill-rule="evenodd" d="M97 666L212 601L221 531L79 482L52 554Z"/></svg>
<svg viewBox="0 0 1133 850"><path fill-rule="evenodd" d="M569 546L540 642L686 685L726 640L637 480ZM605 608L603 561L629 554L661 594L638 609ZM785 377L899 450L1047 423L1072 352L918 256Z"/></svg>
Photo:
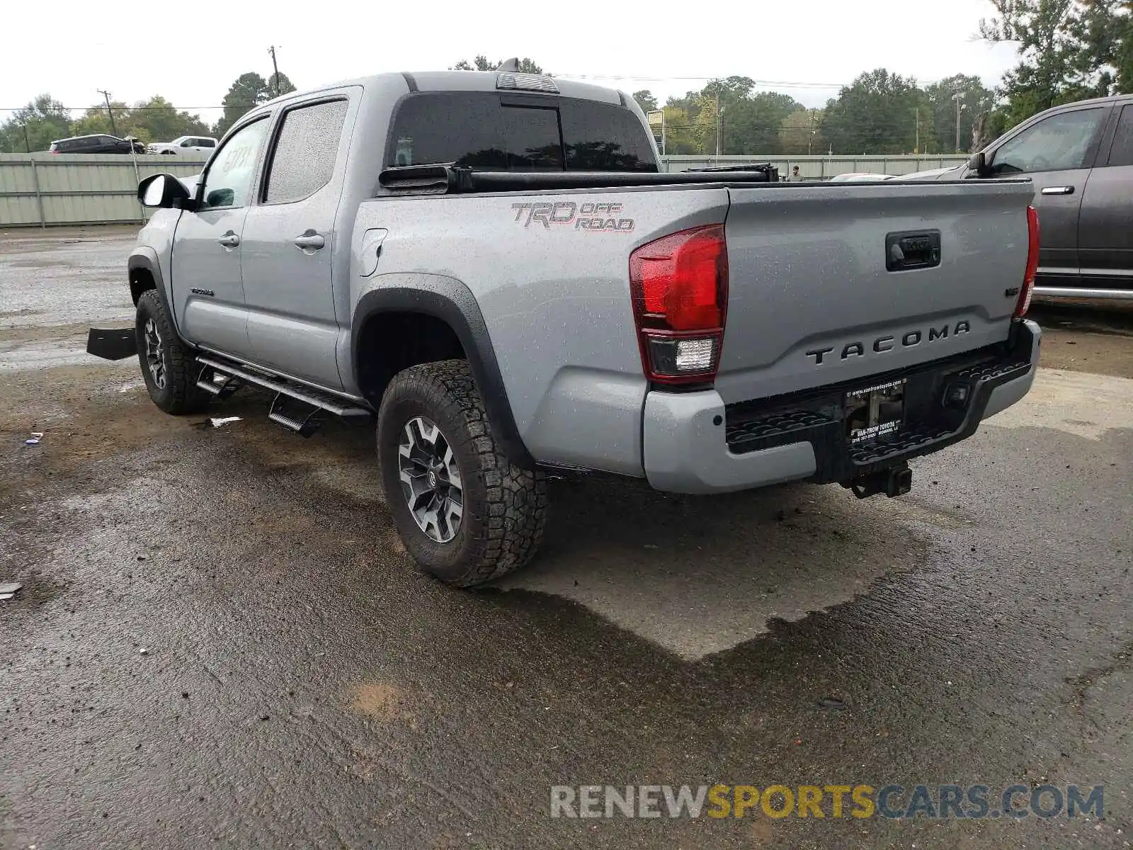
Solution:
<svg viewBox="0 0 1133 850"><path fill-rule="evenodd" d="M1133 103L1122 108L1090 173L1077 232L1082 277L1100 288L1133 289Z"/></svg>

